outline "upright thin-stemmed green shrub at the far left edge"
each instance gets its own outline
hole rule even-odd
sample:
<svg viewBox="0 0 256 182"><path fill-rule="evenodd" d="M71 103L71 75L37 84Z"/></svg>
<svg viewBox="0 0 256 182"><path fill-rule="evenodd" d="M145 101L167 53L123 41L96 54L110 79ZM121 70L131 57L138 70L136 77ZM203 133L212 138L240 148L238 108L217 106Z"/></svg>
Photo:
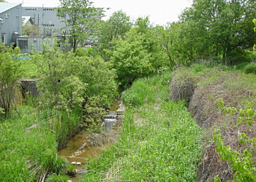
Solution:
<svg viewBox="0 0 256 182"><path fill-rule="evenodd" d="M12 95L20 78L19 49L12 48L12 45L5 47L4 44L0 44L0 108L4 109L5 114L8 114L12 107Z"/></svg>

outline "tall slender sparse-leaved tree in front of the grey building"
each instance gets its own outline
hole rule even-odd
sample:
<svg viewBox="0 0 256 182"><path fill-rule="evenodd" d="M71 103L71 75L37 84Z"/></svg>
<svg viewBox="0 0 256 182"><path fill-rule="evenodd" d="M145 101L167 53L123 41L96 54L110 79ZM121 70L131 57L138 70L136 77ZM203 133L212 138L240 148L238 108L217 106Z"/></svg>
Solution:
<svg viewBox="0 0 256 182"><path fill-rule="evenodd" d="M72 36L74 52L79 43L94 39L103 14L101 8L93 7L92 4L89 0L60 0L57 15L64 18L65 31Z"/></svg>

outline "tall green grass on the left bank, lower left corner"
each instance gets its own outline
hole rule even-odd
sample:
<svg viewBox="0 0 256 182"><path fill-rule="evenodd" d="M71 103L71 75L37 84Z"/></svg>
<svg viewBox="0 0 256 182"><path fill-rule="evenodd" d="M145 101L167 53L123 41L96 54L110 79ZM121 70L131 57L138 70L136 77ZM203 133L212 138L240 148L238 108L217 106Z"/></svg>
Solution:
<svg viewBox="0 0 256 182"><path fill-rule="evenodd" d="M17 109L19 114L0 120L0 181L40 181L48 173L62 173L67 162L58 157L58 146L78 127L78 114Z"/></svg>

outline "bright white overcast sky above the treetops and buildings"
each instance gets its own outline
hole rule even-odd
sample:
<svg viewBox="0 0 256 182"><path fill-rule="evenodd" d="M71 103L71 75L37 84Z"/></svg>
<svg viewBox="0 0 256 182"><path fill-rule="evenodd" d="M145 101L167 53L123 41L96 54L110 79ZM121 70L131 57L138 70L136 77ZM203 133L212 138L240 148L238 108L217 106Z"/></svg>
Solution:
<svg viewBox="0 0 256 182"><path fill-rule="evenodd" d="M59 0L7 0L23 3L23 7L57 7ZM167 22L178 20L178 15L192 0L91 0L94 7L109 7L105 13L108 18L113 12L123 10L135 20L138 17L149 15L151 23L165 25ZM105 19L106 19L105 18Z"/></svg>

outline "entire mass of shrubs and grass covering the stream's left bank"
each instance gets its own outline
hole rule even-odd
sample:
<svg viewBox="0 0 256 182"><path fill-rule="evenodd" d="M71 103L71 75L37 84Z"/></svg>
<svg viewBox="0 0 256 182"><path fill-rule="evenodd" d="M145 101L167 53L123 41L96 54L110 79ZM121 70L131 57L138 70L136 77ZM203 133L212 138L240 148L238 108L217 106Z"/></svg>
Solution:
<svg viewBox="0 0 256 182"><path fill-rule="evenodd" d="M98 130L117 95L115 71L101 58L61 52L56 45L27 58L1 47L0 180L43 181L51 173L65 179L67 161L58 149L79 128ZM21 76L36 78L40 94L26 95L18 106L13 95L21 95Z"/></svg>

